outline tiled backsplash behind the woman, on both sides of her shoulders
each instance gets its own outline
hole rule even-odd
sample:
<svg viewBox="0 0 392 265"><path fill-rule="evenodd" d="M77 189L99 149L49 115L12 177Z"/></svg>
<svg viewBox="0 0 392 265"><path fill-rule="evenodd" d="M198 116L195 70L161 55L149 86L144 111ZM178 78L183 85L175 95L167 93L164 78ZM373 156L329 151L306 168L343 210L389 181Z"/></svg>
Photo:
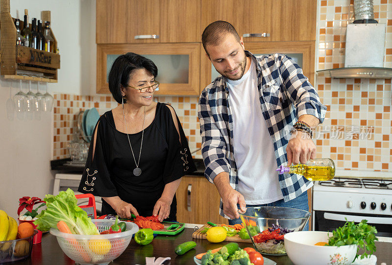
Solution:
<svg viewBox="0 0 392 265"><path fill-rule="evenodd" d="M191 152L199 149L201 137L197 120L198 97L156 96L154 100L172 105L188 138ZM95 107L99 115L102 115L117 105L118 103L112 96L55 94L53 159L69 157L67 145L72 140L73 133L77 128L76 120L79 111ZM196 158L201 158L201 151L197 151L193 155Z"/></svg>

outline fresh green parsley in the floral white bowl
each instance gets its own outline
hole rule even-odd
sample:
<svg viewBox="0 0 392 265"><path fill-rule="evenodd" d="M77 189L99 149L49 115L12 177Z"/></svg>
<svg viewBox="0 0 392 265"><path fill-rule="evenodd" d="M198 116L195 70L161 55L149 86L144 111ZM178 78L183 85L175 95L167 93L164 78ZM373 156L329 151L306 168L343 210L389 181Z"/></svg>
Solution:
<svg viewBox="0 0 392 265"><path fill-rule="evenodd" d="M368 225L367 222L368 220L362 220L360 223L354 224L354 222L348 222L346 219L346 223L342 227L332 231L332 237L329 238L328 245L344 246L356 244L358 245L358 250L354 261L359 257L360 248L364 250L360 258L368 257L376 250L374 241L378 241L378 239L374 235L377 233L376 228Z"/></svg>

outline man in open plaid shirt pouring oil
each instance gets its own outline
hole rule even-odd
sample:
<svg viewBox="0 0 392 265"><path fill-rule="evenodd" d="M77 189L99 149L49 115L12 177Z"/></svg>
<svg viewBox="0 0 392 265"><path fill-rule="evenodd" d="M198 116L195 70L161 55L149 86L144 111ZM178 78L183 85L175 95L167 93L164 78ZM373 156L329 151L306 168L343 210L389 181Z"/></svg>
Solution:
<svg viewBox="0 0 392 265"><path fill-rule="evenodd" d="M324 120L326 107L315 89L291 58L246 51L228 22L209 24L202 43L221 74L203 90L198 110L205 177L221 195L221 216L234 224L241 223L238 207L308 210L313 183L275 169L316 157L309 127Z"/></svg>

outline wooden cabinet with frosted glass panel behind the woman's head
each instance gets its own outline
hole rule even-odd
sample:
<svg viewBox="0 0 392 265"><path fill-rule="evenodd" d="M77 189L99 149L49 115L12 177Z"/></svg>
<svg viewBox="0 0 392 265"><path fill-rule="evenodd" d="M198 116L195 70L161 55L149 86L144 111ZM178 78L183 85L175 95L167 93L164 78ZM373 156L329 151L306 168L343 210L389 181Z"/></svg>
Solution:
<svg viewBox="0 0 392 265"><path fill-rule="evenodd" d="M114 60L134 52L152 60L158 68L156 80L161 84L154 95L199 95L200 44L98 44L97 93L109 94L108 73Z"/></svg>

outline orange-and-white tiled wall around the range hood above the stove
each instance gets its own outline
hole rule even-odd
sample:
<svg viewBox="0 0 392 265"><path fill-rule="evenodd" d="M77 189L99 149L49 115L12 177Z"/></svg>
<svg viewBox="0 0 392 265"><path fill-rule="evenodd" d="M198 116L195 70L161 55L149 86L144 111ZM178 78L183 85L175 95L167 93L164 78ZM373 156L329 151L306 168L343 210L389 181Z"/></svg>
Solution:
<svg viewBox="0 0 392 265"><path fill-rule="evenodd" d="M374 19L387 24L384 67L392 68L392 0L373 0ZM353 1L321 0L317 70L344 67L346 26ZM391 79L317 77L328 112L315 134L318 157L331 157L338 169L392 171Z"/></svg>

